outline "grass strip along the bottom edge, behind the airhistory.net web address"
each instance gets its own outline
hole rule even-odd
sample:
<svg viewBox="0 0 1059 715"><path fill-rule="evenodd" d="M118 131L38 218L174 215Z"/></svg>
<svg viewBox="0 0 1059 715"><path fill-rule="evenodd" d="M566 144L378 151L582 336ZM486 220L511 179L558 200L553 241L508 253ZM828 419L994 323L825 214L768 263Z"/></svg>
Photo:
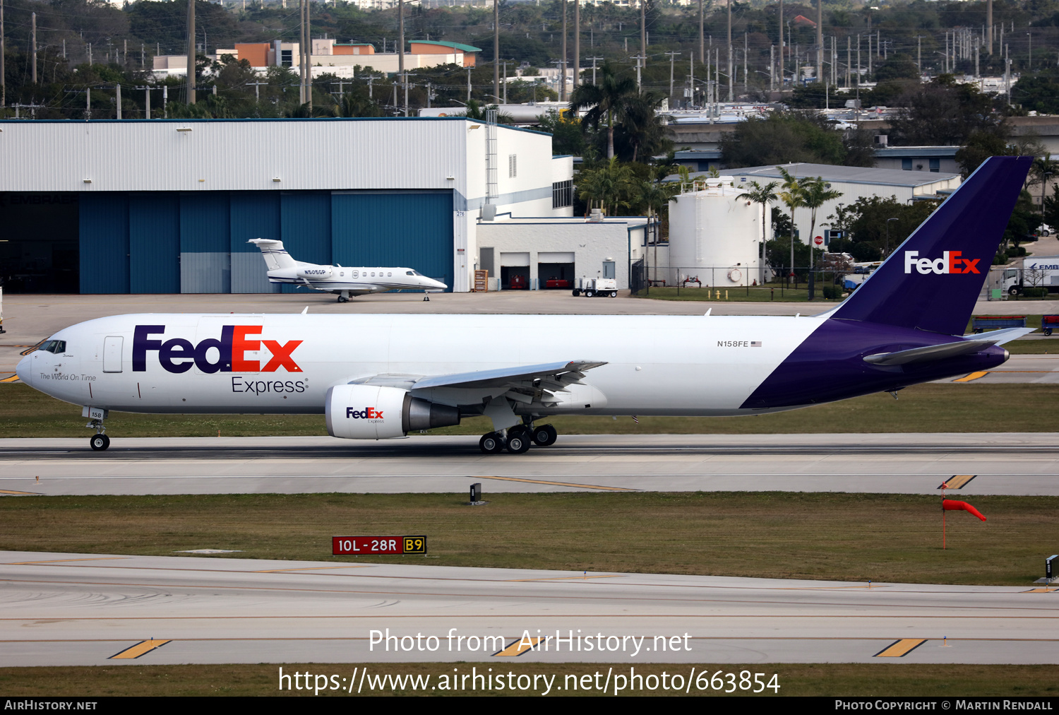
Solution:
<svg viewBox="0 0 1059 715"><path fill-rule="evenodd" d="M64 666L64 667L5 667L0 668L0 691L7 697L103 697L115 695L128 696L294 696L317 697L309 690L279 690L280 664L225 664L225 665L101 665L101 666ZM572 690L574 680L582 676L600 674L599 682L604 682L608 668L614 673L630 675L630 668L635 668L636 675L670 677L679 674L685 679L695 673L707 673L711 677L720 671L722 674L735 673L738 683L741 671L767 674L762 681L768 682L772 674L778 676L778 693L766 689L756 697L787 696L829 696L829 697L1026 697L1059 695L1059 684L1055 679L1054 665L925 665L913 663L750 663L746 665L732 663L689 664L689 663L284 663L284 675L309 673L315 676L336 675L339 683L342 678L352 678L354 668L366 668L370 676L430 676L426 694L429 695L491 695L522 696L540 695L533 691L471 691L471 690L430 690L436 686L441 676L470 674L477 668L481 674L508 673L519 675L555 676L553 684L563 690L553 687L551 695L598 696L597 690ZM359 682L359 669L357 672ZM569 678L568 678L569 676ZM753 678L753 675L751 676ZM726 683L724 687L730 685ZM468 679L469 681L469 679ZM301 681L304 684L304 680ZM366 682L366 678L365 678ZM420 681L421 682L421 681ZM508 681L511 682L511 681ZM525 680L523 680L525 682ZM611 681L613 682L613 680ZM328 681L329 686L330 681ZM286 682L285 682L286 684ZM366 691L360 695L423 695L424 691L408 687L394 687L389 681L387 687ZM685 680L686 685L686 680ZM347 687L344 685L343 687ZM613 693L608 691L609 695ZM684 696L684 691L662 690L626 690L623 695L650 696L660 695ZM356 687L351 696L345 690L321 690L319 696L356 696ZM716 690L699 691L694 684L690 695L736 695L747 696L746 691L725 694Z"/></svg>

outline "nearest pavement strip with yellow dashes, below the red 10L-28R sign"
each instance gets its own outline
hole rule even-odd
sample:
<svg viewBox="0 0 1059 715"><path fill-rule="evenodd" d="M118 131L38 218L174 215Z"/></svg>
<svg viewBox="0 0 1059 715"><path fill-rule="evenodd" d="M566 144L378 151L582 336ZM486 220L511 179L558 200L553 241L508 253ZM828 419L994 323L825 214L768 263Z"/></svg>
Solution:
<svg viewBox="0 0 1059 715"><path fill-rule="evenodd" d="M1054 589L365 560L0 552L0 665L1059 663Z"/></svg>

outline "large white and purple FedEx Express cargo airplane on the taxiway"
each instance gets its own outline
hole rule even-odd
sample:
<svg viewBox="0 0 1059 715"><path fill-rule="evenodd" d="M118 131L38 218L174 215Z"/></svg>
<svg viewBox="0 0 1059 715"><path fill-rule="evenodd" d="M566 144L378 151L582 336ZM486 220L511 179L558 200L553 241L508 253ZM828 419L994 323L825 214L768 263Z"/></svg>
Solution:
<svg viewBox="0 0 1059 715"><path fill-rule="evenodd" d="M112 410L323 413L353 440L485 415L482 450L520 453L555 442L552 415L751 415L896 392L994 368L1029 332L963 335L1030 161L986 161L819 316L113 316L59 330L18 375L83 406L92 449Z"/></svg>

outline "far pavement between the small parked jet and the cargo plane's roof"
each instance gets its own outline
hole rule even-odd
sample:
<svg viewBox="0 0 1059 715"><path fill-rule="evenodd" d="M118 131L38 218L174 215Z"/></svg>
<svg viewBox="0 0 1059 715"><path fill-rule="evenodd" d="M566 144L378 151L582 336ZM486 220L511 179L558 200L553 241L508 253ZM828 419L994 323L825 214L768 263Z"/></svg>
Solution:
<svg viewBox="0 0 1059 715"><path fill-rule="evenodd" d="M263 266L264 268L264 266ZM733 294L733 299L735 296ZM337 303L324 293L187 293L179 296L4 296L0 375L15 372L19 354L53 333L93 318L126 312L461 312L537 315L793 316L824 312L837 303L660 301L632 298L574 298L569 290L502 290L489 293L377 293ZM1056 301L981 301L976 315L1059 314Z"/></svg>

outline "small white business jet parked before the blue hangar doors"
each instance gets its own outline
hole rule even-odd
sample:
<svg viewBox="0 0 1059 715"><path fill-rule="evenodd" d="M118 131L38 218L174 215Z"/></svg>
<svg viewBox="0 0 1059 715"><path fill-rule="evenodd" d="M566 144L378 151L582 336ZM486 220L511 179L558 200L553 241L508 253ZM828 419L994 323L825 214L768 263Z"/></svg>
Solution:
<svg viewBox="0 0 1059 715"><path fill-rule="evenodd" d="M351 296L379 293L385 290L426 290L439 292L448 288L441 281L427 278L411 268L363 268L347 266L321 266L304 261L294 261L283 247L282 240L254 238L247 243L261 249L268 267L269 283L290 283L313 290L325 290L338 296L339 303L345 303ZM430 300L424 297L424 300Z"/></svg>

